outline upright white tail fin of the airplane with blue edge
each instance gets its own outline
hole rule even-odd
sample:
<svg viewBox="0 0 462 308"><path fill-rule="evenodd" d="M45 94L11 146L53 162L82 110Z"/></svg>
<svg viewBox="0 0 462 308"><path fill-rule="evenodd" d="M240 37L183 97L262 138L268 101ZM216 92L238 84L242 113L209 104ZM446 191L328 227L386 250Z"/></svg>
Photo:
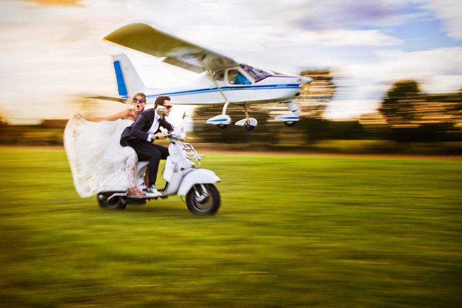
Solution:
<svg viewBox="0 0 462 308"><path fill-rule="evenodd" d="M146 86L141 81L140 76L126 54L113 55L112 59L115 78L117 79L117 88L121 97L127 98L136 92L146 92Z"/></svg>

